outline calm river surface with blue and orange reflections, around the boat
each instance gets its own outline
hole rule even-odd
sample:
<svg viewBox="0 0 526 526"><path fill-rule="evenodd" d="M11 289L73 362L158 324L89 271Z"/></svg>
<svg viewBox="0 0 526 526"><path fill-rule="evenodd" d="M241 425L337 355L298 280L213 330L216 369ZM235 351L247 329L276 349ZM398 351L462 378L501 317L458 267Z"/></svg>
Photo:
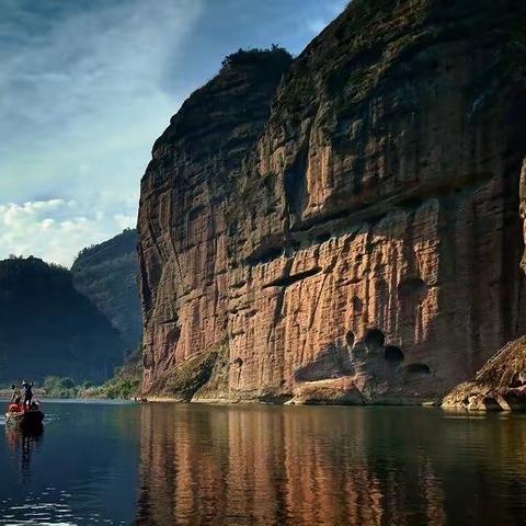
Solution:
<svg viewBox="0 0 526 526"><path fill-rule="evenodd" d="M526 525L526 416L46 403L0 435L0 524Z"/></svg>

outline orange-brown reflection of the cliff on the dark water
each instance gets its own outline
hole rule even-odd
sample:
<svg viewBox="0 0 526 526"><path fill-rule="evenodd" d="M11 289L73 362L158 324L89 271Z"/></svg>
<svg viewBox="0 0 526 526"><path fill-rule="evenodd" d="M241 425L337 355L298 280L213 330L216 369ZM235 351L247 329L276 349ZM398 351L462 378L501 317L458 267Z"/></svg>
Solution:
<svg viewBox="0 0 526 526"><path fill-rule="evenodd" d="M148 405L136 524L512 524L525 441L435 411Z"/></svg>

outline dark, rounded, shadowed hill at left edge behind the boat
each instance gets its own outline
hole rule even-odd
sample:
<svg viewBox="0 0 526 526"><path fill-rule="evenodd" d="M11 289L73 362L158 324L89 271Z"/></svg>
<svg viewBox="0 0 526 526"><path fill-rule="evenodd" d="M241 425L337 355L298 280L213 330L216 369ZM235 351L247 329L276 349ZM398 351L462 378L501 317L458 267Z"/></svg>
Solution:
<svg viewBox="0 0 526 526"><path fill-rule="evenodd" d="M126 343L72 283L36 258L0 261L0 382L69 376L100 382L122 364Z"/></svg>

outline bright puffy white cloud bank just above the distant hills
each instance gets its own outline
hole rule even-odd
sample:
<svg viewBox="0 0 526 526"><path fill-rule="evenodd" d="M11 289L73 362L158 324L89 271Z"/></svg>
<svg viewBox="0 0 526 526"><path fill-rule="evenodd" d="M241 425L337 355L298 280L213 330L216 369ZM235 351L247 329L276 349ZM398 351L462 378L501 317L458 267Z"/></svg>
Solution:
<svg viewBox="0 0 526 526"><path fill-rule="evenodd" d="M84 247L133 226L133 216L101 216L75 201L0 205L0 259L35 255L69 266Z"/></svg>

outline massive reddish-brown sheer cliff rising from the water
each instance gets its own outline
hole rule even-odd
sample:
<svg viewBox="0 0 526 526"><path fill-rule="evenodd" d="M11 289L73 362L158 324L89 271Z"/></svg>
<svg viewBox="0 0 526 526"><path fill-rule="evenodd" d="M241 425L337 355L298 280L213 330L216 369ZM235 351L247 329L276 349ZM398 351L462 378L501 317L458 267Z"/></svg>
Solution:
<svg viewBox="0 0 526 526"><path fill-rule="evenodd" d="M526 332L525 22L510 0L354 0L270 113L270 55L194 93L142 181L145 392L430 399Z"/></svg>

